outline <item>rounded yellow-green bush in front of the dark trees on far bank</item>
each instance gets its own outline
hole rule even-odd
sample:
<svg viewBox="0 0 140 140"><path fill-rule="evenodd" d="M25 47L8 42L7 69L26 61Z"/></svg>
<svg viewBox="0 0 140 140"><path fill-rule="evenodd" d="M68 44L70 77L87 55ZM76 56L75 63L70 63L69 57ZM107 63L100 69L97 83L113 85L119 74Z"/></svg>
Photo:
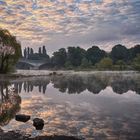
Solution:
<svg viewBox="0 0 140 140"><path fill-rule="evenodd" d="M96 65L97 65L97 68L99 68L99 69L110 70L110 69L112 69L113 63L112 63L112 60L109 57L105 57L99 63L97 63Z"/></svg>

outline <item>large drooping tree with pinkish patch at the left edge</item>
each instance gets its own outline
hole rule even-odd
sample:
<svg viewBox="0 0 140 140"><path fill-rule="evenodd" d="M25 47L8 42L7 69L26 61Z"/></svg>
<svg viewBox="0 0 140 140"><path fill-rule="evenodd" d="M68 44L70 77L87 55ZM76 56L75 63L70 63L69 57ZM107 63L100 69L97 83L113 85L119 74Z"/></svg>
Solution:
<svg viewBox="0 0 140 140"><path fill-rule="evenodd" d="M0 29L0 73L11 70L22 56L21 45L8 30Z"/></svg>

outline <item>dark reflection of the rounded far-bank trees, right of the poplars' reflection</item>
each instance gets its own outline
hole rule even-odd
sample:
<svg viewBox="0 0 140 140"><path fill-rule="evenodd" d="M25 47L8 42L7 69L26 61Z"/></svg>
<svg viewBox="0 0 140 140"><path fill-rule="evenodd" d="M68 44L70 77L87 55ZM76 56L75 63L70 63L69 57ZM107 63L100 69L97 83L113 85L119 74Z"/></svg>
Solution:
<svg viewBox="0 0 140 140"><path fill-rule="evenodd" d="M122 94L132 90L140 94L140 79L131 76L105 74L70 75L53 77L52 82L54 88L58 88L60 92L81 93L87 89L94 94L98 94L101 90L111 85L115 93Z"/></svg>

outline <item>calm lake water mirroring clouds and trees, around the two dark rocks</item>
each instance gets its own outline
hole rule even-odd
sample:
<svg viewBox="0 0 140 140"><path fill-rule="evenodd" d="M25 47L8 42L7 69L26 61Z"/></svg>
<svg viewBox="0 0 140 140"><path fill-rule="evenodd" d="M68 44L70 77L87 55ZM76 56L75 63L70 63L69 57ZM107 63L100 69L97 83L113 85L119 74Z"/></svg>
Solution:
<svg viewBox="0 0 140 140"><path fill-rule="evenodd" d="M16 93L8 88L15 87ZM140 74L103 73L30 77L0 82L0 125L5 131L73 135L87 140L140 139ZM31 115L17 122L17 113ZM32 119L45 120L36 131Z"/></svg>

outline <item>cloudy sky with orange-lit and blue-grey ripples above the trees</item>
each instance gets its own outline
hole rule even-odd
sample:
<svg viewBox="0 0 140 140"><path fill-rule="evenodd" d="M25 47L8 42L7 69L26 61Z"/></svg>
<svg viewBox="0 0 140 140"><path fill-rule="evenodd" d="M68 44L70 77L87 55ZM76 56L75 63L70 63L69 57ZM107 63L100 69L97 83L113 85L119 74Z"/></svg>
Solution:
<svg viewBox="0 0 140 140"><path fill-rule="evenodd" d="M140 43L140 0L0 0L0 27L22 47L92 45L109 51L115 44Z"/></svg>

